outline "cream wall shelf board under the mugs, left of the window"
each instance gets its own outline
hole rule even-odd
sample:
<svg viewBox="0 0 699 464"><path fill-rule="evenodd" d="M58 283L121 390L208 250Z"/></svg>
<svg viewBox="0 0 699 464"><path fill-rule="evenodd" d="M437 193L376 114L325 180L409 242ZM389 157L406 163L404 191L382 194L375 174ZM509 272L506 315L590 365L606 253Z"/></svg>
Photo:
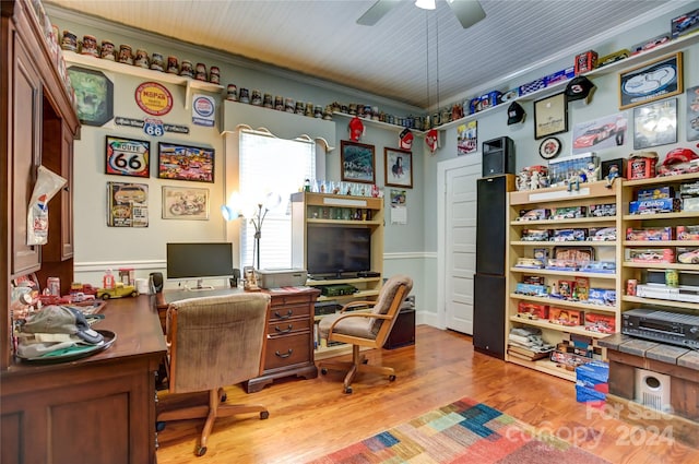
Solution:
<svg viewBox="0 0 699 464"><path fill-rule="evenodd" d="M125 64L110 60L103 60L90 55L80 55L74 51L63 50L66 64L80 66L84 68L95 69L99 71L109 71L119 74L133 75L149 81L164 82L167 84L185 86L185 109L189 108L192 91L210 92L212 94L223 94L223 85L212 84L211 82L198 81L191 78L185 78L167 72L154 71L151 69L139 68L135 66Z"/></svg>

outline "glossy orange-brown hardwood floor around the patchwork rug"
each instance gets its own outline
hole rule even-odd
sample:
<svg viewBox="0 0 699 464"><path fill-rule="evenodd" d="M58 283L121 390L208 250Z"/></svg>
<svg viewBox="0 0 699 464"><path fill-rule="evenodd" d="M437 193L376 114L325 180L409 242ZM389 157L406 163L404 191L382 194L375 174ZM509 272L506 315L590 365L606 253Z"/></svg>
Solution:
<svg viewBox="0 0 699 464"><path fill-rule="evenodd" d="M218 419L202 457L193 449L203 421L168 423L158 435L158 464L305 463L464 396L615 464L699 463L699 450L672 440L662 421L640 429L591 409L576 402L572 382L474 353L469 336L420 325L416 338L414 346L367 352L369 362L394 367L398 379L359 377L351 395L332 371L277 381L252 394L229 388L228 403L262 403L269 419Z"/></svg>

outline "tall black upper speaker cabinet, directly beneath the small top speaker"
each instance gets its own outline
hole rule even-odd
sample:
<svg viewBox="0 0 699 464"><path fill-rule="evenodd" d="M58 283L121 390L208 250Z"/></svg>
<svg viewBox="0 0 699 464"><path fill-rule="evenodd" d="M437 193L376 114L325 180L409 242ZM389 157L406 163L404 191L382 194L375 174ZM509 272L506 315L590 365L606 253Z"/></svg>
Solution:
<svg viewBox="0 0 699 464"><path fill-rule="evenodd" d="M513 175L476 181L476 273L505 274L507 194L513 186Z"/></svg>

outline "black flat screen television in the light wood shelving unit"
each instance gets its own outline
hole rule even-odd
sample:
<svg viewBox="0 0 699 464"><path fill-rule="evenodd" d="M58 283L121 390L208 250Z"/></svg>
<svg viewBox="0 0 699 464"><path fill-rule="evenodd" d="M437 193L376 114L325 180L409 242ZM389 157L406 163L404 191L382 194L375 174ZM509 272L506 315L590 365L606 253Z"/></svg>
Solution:
<svg viewBox="0 0 699 464"><path fill-rule="evenodd" d="M309 224L306 240L306 267L315 278L371 270L369 228Z"/></svg>

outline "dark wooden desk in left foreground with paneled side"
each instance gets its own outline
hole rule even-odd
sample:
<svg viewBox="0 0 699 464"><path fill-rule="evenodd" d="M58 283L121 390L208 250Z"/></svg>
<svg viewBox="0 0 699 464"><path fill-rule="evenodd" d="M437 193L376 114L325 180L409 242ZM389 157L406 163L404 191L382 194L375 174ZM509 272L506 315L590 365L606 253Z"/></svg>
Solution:
<svg viewBox="0 0 699 464"><path fill-rule="evenodd" d="M166 353L150 297L109 300L93 325L114 345L0 374L2 463L155 463L155 378Z"/></svg>

